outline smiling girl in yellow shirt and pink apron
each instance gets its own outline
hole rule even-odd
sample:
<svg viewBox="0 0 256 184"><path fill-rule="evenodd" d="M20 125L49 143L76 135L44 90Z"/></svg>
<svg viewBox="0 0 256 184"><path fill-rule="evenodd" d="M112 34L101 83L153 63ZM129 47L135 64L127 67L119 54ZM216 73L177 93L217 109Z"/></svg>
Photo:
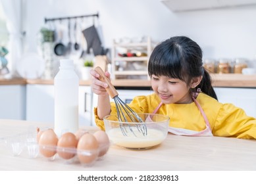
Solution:
<svg viewBox="0 0 256 184"><path fill-rule="evenodd" d="M170 117L168 131L176 135L220 136L256 139L256 120L233 104L222 104L203 68L202 51L192 39L170 37L157 45L149 58L148 72L153 94L135 97L128 104L135 112ZM109 72L105 72L110 78ZM92 90L98 95L95 122L104 129L104 116L116 114L105 90L91 70Z"/></svg>

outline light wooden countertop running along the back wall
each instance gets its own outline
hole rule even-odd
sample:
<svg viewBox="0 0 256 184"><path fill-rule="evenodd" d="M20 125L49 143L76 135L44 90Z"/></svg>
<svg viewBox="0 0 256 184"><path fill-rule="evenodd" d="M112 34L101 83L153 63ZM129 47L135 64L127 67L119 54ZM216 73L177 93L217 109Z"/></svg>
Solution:
<svg viewBox="0 0 256 184"><path fill-rule="evenodd" d="M243 74L211 74L214 87L253 87L256 88L256 75ZM149 80L113 80L116 87L150 87ZM1 80L0 85L11 84L53 84L53 80ZM90 80L80 80L80 85L90 85Z"/></svg>

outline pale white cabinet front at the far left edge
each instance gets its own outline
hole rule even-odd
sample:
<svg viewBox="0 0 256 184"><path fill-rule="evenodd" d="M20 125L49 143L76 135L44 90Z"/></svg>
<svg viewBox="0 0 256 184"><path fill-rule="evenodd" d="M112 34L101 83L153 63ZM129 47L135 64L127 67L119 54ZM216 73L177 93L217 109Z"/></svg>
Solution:
<svg viewBox="0 0 256 184"><path fill-rule="evenodd" d="M0 85L0 119L25 120L26 85Z"/></svg>

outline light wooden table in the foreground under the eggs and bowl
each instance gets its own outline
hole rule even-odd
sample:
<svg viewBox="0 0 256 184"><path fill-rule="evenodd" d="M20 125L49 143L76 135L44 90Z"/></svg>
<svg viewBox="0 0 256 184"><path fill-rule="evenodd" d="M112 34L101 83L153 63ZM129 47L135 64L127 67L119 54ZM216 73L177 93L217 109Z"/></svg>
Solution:
<svg viewBox="0 0 256 184"><path fill-rule="evenodd" d="M13 156L3 137L45 124L21 120L0 120L0 170L256 170L256 141L224 137L185 137L168 134L159 146L130 150L111 145L103 160L91 167L48 161L42 156ZM97 127L87 127L95 131Z"/></svg>

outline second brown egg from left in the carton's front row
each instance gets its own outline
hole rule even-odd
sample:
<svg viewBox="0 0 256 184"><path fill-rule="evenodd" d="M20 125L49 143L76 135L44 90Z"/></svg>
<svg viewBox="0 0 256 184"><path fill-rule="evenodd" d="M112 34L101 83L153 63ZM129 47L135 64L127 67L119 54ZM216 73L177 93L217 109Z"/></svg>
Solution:
<svg viewBox="0 0 256 184"><path fill-rule="evenodd" d="M57 144L57 153L61 158L70 159L76 155L76 146L78 144L78 140L74 133L66 132L61 135L61 138Z"/></svg>

